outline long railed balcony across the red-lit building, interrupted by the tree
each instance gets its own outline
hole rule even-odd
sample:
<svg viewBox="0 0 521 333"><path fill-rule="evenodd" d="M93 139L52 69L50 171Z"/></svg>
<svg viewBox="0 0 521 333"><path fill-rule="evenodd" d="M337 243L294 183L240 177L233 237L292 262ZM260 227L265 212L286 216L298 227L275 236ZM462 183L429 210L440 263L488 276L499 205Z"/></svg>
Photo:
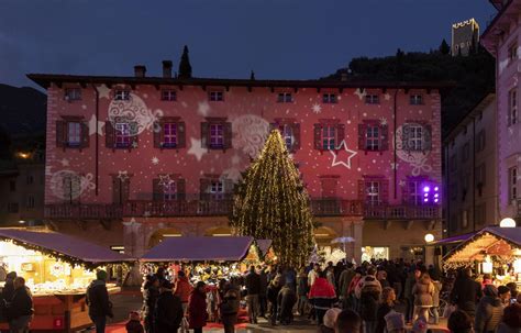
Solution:
<svg viewBox="0 0 521 333"><path fill-rule="evenodd" d="M46 219L121 220L132 217L223 217L230 214L233 201L219 200L129 200L123 204L56 203L45 206ZM364 217L368 220L437 219L440 208L433 206L364 206L359 200L312 198L315 217Z"/></svg>

